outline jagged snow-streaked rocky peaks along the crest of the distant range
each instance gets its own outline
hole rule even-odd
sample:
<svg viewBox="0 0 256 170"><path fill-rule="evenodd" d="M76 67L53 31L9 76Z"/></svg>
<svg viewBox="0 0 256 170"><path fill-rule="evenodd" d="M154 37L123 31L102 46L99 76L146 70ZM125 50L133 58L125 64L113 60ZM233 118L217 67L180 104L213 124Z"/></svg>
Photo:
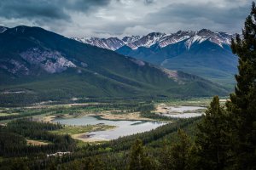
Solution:
<svg viewBox="0 0 256 170"><path fill-rule="evenodd" d="M170 44L185 41L187 49L195 43L201 43L204 41L210 41L218 46L223 47L223 44L230 45L231 37L225 32L213 32L207 29L201 29L200 31L177 31L176 33L166 34L161 32L151 32L146 36L131 36L123 37L119 39L117 37L109 38L98 38L98 37L82 37L73 38L79 42L88 43L100 48L108 48L111 50L116 50L123 46L128 46L132 49L137 49L139 47L150 48L154 44L157 44L160 48L164 48Z"/></svg>

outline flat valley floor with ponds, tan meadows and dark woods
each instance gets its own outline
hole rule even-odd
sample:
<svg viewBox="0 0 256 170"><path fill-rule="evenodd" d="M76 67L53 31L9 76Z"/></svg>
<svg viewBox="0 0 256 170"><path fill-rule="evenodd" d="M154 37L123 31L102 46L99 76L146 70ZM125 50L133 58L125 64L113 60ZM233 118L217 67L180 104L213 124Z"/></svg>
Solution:
<svg viewBox="0 0 256 170"><path fill-rule="evenodd" d="M175 136L177 127L188 129L187 132L193 134L194 122L200 119L210 101L209 98L121 100L2 107L0 133L4 133L6 138L13 138L14 145L19 145L23 149L10 149L6 144L5 150L12 151L2 151L0 156L3 162L6 162L9 157L27 156L27 152L35 157L52 155L60 151L68 152L74 157L78 154L86 155L86 151L80 153L82 150L92 150L91 155L108 154L111 150L129 149L137 138L144 139L152 146L159 145L162 139ZM222 100L224 101L225 99ZM193 114L198 118L188 119L189 116L194 117ZM179 119L180 116L184 116L183 119ZM15 136L11 137L12 135Z"/></svg>

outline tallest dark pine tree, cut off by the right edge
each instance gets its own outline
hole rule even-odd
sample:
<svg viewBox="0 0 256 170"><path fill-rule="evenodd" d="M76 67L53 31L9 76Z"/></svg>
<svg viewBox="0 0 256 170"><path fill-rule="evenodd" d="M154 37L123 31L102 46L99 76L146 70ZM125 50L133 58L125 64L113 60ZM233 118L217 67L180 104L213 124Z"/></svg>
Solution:
<svg viewBox="0 0 256 170"><path fill-rule="evenodd" d="M252 5L242 37L232 40L231 48L239 58L235 94L230 95L227 108L233 114L235 153L239 169L256 169L256 8Z"/></svg>

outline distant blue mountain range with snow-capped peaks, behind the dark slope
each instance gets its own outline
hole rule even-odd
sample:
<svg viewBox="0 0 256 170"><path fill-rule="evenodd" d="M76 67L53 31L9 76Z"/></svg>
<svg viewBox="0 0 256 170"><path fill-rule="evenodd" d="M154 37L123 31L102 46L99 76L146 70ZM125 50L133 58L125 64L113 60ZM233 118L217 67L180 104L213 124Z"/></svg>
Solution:
<svg viewBox="0 0 256 170"><path fill-rule="evenodd" d="M200 31L177 31L166 34L152 32L146 36L124 38L78 38L73 39L108 48L119 54L148 61L167 69L189 73L233 88L237 57L230 49L231 38L235 34Z"/></svg>

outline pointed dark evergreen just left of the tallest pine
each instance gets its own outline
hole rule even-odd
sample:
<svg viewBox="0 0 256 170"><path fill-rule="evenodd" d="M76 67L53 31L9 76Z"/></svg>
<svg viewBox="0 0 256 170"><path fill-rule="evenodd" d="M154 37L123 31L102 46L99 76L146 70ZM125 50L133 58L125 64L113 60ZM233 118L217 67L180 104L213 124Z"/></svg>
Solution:
<svg viewBox="0 0 256 170"><path fill-rule="evenodd" d="M198 147L198 165L201 169L226 169L230 165L229 116L219 105L218 96L213 97L206 115L198 124L195 144Z"/></svg>

